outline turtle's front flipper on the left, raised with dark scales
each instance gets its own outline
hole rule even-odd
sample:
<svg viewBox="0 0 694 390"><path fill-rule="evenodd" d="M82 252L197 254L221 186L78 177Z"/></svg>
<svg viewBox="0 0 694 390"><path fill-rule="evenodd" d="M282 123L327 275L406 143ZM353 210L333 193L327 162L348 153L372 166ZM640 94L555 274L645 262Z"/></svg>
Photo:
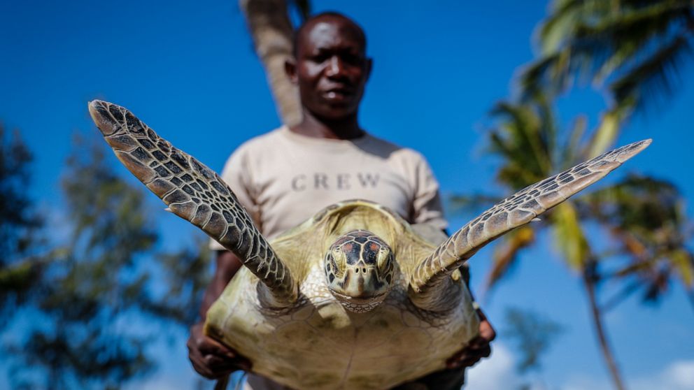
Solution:
<svg viewBox="0 0 694 390"><path fill-rule="evenodd" d="M285 307L297 300L289 268L214 171L157 136L125 108L94 100L89 112L116 157L171 212L234 252L260 278L268 287L270 294L264 295L269 305Z"/></svg>

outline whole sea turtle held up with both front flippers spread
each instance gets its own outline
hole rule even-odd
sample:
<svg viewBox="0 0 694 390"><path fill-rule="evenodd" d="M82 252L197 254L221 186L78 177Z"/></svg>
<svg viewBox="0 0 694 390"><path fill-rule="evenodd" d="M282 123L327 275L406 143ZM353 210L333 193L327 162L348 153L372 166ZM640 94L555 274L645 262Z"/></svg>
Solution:
<svg viewBox="0 0 694 390"><path fill-rule="evenodd" d="M367 201L331 205L269 243L219 176L125 108L89 110L118 159L167 210L243 261L207 314L208 335L295 389L385 389L441 370L478 333L458 268L651 143L602 154L526 187L440 245Z"/></svg>

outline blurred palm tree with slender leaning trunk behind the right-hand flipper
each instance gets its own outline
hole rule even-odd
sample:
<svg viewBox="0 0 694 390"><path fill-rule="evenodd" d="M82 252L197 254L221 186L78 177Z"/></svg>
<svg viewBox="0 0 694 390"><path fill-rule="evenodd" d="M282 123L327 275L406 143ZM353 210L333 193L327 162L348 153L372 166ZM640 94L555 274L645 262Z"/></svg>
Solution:
<svg viewBox="0 0 694 390"><path fill-rule="evenodd" d="M586 121L574 121L560 131L552 101L536 94L533 101L500 103L493 110L497 127L490 130L490 152L502 159L497 181L513 192L588 159L600 139L586 134ZM490 196L462 198L469 205ZM460 203L461 199L458 199ZM454 198L455 202L456 199ZM539 224L526 225L502 237L493 254L488 287L499 282L518 261L520 250L534 243L534 227L548 228L562 258L581 275L600 349L616 388L623 389L621 375L609 347L596 290L605 280L637 280L647 296L659 297L674 275L688 291L694 287L694 263L686 247L689 224L681 208L681 194L670 183L634 176L589 196L578 196L561 205ZM611 233L616 250L599 252L586 232ZM608 260L627 263L618 270L604 270ZM632 282L627 283L628 287ZM635 291L625 289L624 294ZM691 296L691 292L690 292ZM614 300L612 300L614 301Z"/></svg>

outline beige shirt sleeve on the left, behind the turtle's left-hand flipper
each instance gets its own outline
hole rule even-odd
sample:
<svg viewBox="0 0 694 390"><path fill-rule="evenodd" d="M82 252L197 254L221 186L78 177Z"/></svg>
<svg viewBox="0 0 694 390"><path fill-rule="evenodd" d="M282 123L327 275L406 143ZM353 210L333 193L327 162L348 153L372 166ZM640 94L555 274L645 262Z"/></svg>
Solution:
<svg viewBox="0 0 694 390"><path fill-rule="evenodd" d="M253 187L253 180L250 177L251 172L250 159L242 145L229 156L220 176L229 188L232 189L236 199L239 200L243 208L246 208L255 226L262 231L260 208L257 202L255 202L255 187ZM220 243L212 239L209 247L211 250L226 250Z"/></svg>

